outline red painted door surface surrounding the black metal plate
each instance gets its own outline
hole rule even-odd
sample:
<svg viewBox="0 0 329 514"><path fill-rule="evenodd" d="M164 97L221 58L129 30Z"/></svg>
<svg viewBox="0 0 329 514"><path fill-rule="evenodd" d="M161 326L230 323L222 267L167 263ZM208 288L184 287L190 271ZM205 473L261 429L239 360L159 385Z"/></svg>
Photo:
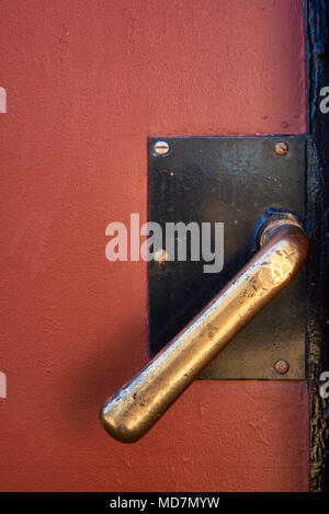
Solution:
<svg viewBox="0 0 329 514"><path fill-rule="evenodd" d="M3 0L1 490L308 487L303 382L195 382L141 442L102 401L146 361L149 134L305 132L302 0Z"/></svg>

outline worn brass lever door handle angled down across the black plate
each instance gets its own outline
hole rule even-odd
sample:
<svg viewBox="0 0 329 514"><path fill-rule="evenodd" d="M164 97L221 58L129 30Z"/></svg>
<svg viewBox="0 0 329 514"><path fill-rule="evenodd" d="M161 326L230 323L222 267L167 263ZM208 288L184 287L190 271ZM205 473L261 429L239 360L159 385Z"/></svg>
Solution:
<svg viewBox="0 0 329 514"><path fill-rule="evenodd" d="M101 422L114 438L138 441L217 354L298 273L308 239L293 215L259 231L260 250L207 307L131 381L107 399Z"/></svg>

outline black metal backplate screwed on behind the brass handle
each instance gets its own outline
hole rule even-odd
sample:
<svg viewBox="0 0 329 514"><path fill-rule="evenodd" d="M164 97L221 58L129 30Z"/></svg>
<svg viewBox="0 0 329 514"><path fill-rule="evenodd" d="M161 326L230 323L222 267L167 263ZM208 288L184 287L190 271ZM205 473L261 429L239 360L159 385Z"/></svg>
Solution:
<svg viewBox="0 0 329 514"><path fill-rule="evenodd" d="M164 140L169 152L158 156ZM286 141L279 156L275 144ZM148 264L149 352L156 354L189 323L254 252L254 227L269 206L304 216L306 138L303 136L166 137L148 141L148 220L224 222L225 264L204 273L203 261ZM213 233L214 237L214 233ZM166 244L163 242L163 248ZM303 379L305 276L302 272L201 378ZM290 369L277 375L274 363Z"/></svg>

